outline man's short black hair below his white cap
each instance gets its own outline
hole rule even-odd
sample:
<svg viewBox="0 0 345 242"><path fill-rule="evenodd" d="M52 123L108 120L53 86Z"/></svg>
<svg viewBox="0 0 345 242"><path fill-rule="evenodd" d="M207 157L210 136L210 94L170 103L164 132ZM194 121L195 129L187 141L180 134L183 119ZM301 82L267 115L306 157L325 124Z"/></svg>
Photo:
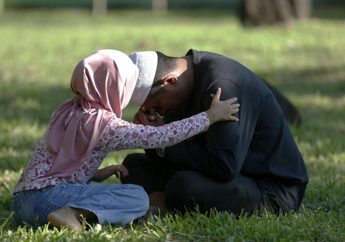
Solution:
<svg viewBox="0 0 345 242"><path fill-rule="evenodd" d="M155 78L153 79L152 87L148 97L152 98L159 94L161 89L159 86L162 84L162 77L177 68L177 57L166 56L162 52L156 51L157 53L157 69ZM163 89L162 89L163 90Z"/></svg>

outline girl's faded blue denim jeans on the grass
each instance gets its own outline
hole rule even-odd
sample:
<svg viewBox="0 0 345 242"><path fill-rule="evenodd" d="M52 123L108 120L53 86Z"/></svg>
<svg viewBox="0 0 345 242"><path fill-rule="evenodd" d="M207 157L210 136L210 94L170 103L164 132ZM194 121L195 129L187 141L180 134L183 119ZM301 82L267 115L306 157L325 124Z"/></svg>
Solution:
<svg viewBox="0 0 345 242"><path fill-rule="evenodd" d="M141 186L126 184L61 183L13 195L13 219L17 226L48 223L47 215L63 206L93 212L98 223L124 225L144 215L149 206Z"/></svg>

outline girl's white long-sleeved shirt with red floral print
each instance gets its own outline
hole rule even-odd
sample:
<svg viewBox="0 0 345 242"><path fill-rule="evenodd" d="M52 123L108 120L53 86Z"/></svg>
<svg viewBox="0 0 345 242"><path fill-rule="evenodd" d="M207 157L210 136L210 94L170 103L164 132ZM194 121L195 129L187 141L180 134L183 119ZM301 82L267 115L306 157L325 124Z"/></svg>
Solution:
<svg viewBox="0 0 345 242"><path fill-rule="evenodd" d="M52 156L45 142L48 133L46 131L20 175L13 193L65 182L89 183L108 152L166 147L204 132L208 127L209 119L205 112L161 127L136 125L116 117L112 118L86 161L76 171L63 177L46 176L53 165Z"/></svg>

